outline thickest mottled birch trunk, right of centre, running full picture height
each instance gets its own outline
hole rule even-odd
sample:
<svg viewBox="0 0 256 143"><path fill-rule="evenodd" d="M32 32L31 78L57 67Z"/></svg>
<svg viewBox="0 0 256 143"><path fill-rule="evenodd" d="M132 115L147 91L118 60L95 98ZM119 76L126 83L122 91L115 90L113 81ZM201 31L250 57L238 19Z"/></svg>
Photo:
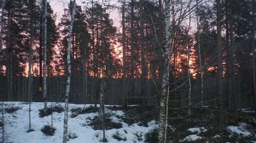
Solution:
<svg viewBox="0 0 256 143"><path fill-rule="evenodd" d="M162 77L162 92L161 92L161 100L160 100L160 121L159 121L159 142L165 143L165 125L166 121L166 100L168 97L167 87L169 84L169 61L170 61L170 43L172 43L172 39L170 37L170 0L165 0L165 39L166 39L166 47L164 51L164 70Z"/></svg>

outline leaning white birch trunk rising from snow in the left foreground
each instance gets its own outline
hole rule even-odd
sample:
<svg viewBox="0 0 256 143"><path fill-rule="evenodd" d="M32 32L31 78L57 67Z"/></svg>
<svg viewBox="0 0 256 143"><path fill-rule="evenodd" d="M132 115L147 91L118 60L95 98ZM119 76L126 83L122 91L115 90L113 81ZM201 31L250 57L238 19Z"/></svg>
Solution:
<svg viewBox="0 0 256 143"><path fill-rule="evenodd" d="M66 85L66 95L65 95L65 113L64 113L64 125L63 125L63 143L67 143L68 136L68 113L69 113L69 94L70 94L70 78L71 78L71 60L70 60L70 49L71 49L71 35L73 31L74 23L74 14L76 9L76 2L73 2L73 9L71 14L71 22L69 28L69 42L68 42L68 53L67 53L67 62L68 62L68 78Z"/></svg>

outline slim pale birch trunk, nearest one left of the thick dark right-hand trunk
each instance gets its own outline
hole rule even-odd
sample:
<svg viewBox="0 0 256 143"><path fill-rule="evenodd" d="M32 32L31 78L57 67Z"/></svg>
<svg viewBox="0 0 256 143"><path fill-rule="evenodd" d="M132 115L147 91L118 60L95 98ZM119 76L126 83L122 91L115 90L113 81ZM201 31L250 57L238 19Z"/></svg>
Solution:
<svg viewBox="0 0 256 143"><path fill-rule="evenodd" d="M198 18L198 12L199 12L199 9L198 9L198 0L197 0L197 37L198 37L198 41L197 41L197 44L198 44L198 59L199 59L199 69L200 69L200 79L201 79L201 106L203 106L203 97L204 97L204 78L203 78L203 70L202 70L202 58L201 58L201 44L200 44L200 29L201 29L201 26L200 26L200 22L199 22L199 18ZM189 79L190 80L190 79Z"/></svg>

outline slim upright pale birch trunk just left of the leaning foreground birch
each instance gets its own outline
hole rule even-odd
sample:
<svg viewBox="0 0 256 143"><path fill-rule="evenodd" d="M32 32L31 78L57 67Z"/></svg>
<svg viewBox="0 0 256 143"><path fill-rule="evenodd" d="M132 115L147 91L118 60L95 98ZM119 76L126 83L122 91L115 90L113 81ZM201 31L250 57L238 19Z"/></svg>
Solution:
<svg viewBox="0 0 256 143"><path fill-rule="evenodd" d="M44 88L43 88L43 92L42 92L42 96L44 98L44 102L45 102L45 106L44 106L44 112L46 115L46 108L47 108L47 83L46 83L46 62L47 62L47 0L45 0L45 48L44 48L44 66L43 66L43 74L44 74L44 78L43 78L43 84L44 84Z"/></svg>

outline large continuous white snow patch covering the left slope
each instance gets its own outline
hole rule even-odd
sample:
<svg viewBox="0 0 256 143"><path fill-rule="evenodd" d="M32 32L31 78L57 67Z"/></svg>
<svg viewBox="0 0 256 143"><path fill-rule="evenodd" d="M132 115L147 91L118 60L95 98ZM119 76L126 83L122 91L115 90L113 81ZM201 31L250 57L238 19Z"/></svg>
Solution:
<svg viewBox="0 0 256 143"><path fill-rule="evenodd" d="M64 103L53 103L53 106L62 106ZM48 103L50 105L50 103ZM87 108L91 105L78 105L78 104L69 104L69 108ZM31 142L31 143L44 143L44 142L62 142L63 137L63 117L64 112L61 113L53 112L53 127L56 128L55 134L53 136L46 136L44 133L40 131L44 125L50 125L51 124L51 116L39 118L39 109L42 109L44 107L44 103L38 103L38 102L32 102L31 104L31 126L34 131L27 132L29 127L29 104L25 102L5 102L4 108L7 107L19 107L17 111L13 113L5 113L5 138L7 139L6 142ZM99 106L99 105L98 105ZM110 105L107 105L110 106ZM124 113L121 110L111 111L109 109L106 109L106 112L111 112L112 114L115 114L116 116L123 116ZM69 117L71 115L71 111L69 111ZM69 143L94 143L94 142L100 142L100 139L102 139L102 131L101 130L94 130L91 126L88 126L88 123L90 123L89 118L93 119L95 116L98 116L98 113L92 112L92 113L86 113L78 115L75 118L69 118L68 122L68 132L69 134L76 134L78 137L74 139L70 139ZM111 119L113 122L121 122L120 119L116 118L115 116L111 116ZM108 139L108 142L124 142L123 140L116 140L112 136L113 134L116 134L116 132L119 132L121 137L126 137L125 142L143 142L144 135L148 131L156 128L158 125L156 124L156 121L148 122L148 127L138 126L138 124L133 124L131 126L127 125L124 122L121 122L123 127L120 129L111 129L106 130L106 138ZM142 135L142 141L137 140L137 136L135 134L141 134Z"/></svg>

